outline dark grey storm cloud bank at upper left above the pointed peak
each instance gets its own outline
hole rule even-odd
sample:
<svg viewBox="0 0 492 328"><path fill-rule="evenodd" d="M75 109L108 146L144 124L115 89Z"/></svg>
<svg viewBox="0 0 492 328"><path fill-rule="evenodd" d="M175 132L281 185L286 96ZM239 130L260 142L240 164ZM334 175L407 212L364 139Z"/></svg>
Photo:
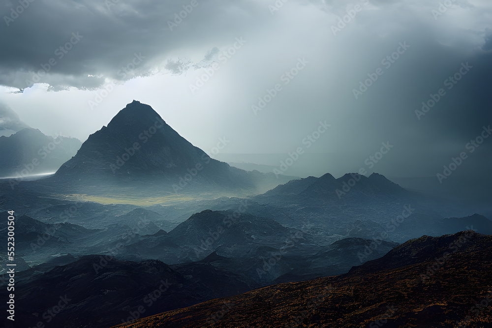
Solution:
<svg viewBox="0 0 492 328"><path fill-rule="evenodd" d="M212 38L221 43L228 34L246 27L246 17L258 10L257 3L241 0L226 4L36 0L11 20L12 9L18 5L9 1L0 8L4 25L0 38L7 45L0 50L0 84L19 89L31 82L92 88L104 78L146 76L169 51L189 45L208 47ZM133 68L135 54L144 60ZM124 70L128 65L129 73ZM39 73L39 79L34 73Z"/></svg>

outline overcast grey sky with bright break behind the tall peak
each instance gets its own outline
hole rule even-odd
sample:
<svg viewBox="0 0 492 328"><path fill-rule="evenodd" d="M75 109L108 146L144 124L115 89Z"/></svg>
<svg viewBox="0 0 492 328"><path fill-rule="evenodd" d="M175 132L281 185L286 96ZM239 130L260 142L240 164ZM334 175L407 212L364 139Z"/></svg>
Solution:
<svg viewBox="0 0 492 328"><path fill-rule="evenodd" d="M0 108L47 135L135 99L218 159L491 181L489 0L23 3L0 5Z"/></svg>

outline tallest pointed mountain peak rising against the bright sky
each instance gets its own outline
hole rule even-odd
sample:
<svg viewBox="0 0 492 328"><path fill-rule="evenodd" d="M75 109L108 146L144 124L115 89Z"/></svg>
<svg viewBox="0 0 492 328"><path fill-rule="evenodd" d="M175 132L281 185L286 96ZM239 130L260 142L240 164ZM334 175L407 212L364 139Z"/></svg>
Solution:
<svg viewBox="0 0 492 328"><path fill-rule="evenodd" d="M248 173L210 158L166 124L151 106L134 100L107 126L91 134L77 154L46 181L89 194L102 189L114 194L114 187L131 190L138 186L151 194L177 195L264 192L287 179Z"/></svg>

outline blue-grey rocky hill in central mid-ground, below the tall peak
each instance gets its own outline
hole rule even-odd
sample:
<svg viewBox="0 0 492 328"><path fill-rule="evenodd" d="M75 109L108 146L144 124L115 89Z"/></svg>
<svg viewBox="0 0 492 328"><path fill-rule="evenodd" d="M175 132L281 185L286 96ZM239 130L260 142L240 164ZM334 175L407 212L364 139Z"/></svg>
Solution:
<svg viewBox="0 0 492 328"><path fill-rule="evenodd" d="M145 236L128 245L126 252L168 264L202 260L217 249L227 258L252 258L265 247L278 249L289 236L298 232L275 220L241 210L207 209L195 213L167 234ZM266 250L263 252L268 254ZM256 274L254 270L252 272Z"/></svg>

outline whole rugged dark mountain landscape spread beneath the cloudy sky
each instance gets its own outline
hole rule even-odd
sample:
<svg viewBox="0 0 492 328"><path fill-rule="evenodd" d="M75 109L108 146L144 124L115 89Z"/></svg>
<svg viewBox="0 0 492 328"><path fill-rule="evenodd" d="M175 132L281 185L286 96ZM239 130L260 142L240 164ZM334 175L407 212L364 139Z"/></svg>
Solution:
<svg viewBox="0 0 492 328"><path fill-rule="evenodd" d="M15 209L21 326L445 327L490 288L492 221L377 173L246 172L138 101L64 163L73 149L38 130L0 137L17 162L42 143L55 145L53 176L14 179L14 192L0 180L0 217Z"/></svg>

